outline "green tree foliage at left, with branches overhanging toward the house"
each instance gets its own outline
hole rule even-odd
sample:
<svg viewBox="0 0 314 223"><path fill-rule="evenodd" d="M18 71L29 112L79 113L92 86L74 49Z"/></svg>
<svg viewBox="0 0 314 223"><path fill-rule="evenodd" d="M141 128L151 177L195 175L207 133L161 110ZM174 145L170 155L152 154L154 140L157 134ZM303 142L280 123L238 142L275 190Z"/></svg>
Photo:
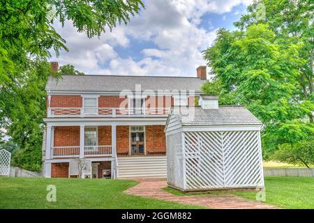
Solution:
<svg viewBox="0 0 314 223"><path fill-rule="evenodd" d="M17 145L20 167L40 170L45 84L51 49L59 56L66 40L55 22L71 20L89 38L126 24L143 7L140 0L12 0L0 3L0 128ZM77 72L76 72L77 73Z"/></svg>

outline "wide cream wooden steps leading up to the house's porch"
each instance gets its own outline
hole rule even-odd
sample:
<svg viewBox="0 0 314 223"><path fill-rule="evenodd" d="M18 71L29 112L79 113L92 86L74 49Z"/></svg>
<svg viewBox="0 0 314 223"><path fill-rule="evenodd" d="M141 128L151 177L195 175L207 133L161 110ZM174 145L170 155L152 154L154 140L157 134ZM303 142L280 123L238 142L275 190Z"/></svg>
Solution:
<svg viewBox="0 0 314 223"><path fill-rule="evenodd" d="M119 178L167 178L166 156L118 157Z"/></svg>

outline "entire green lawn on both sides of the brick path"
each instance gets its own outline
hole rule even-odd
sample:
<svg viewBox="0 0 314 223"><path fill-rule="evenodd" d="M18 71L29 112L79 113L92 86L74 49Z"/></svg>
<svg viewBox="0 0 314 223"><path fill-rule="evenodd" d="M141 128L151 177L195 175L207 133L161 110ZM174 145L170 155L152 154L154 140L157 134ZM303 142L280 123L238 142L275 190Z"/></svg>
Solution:
<svg viewBox="0 0 314 223"><path fill-rule="evenodd" d="M47 185L57 187L57 202L46 200ZM133 185L133 180L0 177L0 208L201 208L123 193ZM266 177L265 186L267 203L281 208L314 208L314 178ZM226 194L209 194L221 193ZM248 199L256 196L256 192L232 193Z"/></svg>

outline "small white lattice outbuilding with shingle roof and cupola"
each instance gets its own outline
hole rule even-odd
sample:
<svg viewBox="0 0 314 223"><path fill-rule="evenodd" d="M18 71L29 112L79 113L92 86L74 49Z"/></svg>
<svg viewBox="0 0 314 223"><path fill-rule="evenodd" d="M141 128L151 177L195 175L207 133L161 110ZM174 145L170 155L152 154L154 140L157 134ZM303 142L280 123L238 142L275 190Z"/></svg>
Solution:
<svg viewBox="0 0 314 223"><path fill-rule="evenodd" d="M200 106L174 107L165 125L167 183L182 191L262 188L262 123L248 109L218 106L201 95Z"/></svg>

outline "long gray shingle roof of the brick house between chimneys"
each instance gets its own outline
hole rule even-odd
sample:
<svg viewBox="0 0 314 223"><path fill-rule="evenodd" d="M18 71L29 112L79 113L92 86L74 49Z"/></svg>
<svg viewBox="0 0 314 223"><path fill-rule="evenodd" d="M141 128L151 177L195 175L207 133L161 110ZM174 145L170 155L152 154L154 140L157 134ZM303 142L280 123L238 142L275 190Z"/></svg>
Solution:
<svg viewBox="0 0 314 223"><path fill-rule="evenodd" d="M51 91L135 91L135 84L144 90L195 90L200 91L205 82L197 77L152 77L109 75L62 75L57 80L50 77L46 90Z"/></svg>

